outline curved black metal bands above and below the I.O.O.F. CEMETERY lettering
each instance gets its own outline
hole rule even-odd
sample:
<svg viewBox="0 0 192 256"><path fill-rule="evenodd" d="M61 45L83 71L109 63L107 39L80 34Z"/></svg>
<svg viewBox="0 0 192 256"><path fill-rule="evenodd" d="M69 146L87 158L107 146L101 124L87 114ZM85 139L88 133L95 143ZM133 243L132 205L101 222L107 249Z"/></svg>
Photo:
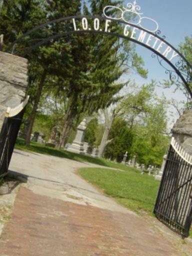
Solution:
<svg viewBox="0 0 192 256"><path fill-rule="evenodd" d="M45 23L43 23L43 24L41 24L41 25L38 25L38 26L36 26L36 27L34 27L34 28L28 30L26 33L24 33L24 34L21 35L18 39L16 39L6 50L7 50L7 51L10 51L11 48L13 48L14 45L15 45L16 43L18 43L22 38L24 38L25 36L29 35L30 33L34 32L34 31L36 31L36 30L38 30L38 29L40 29L40 28L46 27L47 25L50 25L50 24L53 24L53 23L57 23L57 22L66 21L66 20L71 20L72 18L80 19L80 18L83 18L83 17L85 17L85 18L93 18L93 19L94 19L94 18L99 18L99 19L101 19L101 20L107 20L107 19L108 19L108 20L111 20L111 21L116 22L116 23L119 23L119 24L128 24L128 25L130 25L130 26L132 26L132 27L136 27L136 28L140 29L140 27L139 27L138 25L134 25L134 24L132 24L132 23L124 22L124 21L120 21L120 20L114 20L114 19L112 19L112 18L102 17L102 16L100 16L100 15L83 15L83 16L82 16L82 15L76 15L76 16L68 16L68 17L63 17L63 18L58 18L58 19L54 19L54 20L51 20L51 21L47 21L47 22L45 22ZM185 58L174 46L172 46L169 42L167 42L167 41L165 40L165 36L160 37L160 33L161 33L160 30L157 30L155 33L150 32L150 31L148 31L148 30L146 30L146 29L144 29L144 28L142 28L142 30L145 31L145 32L147 32L148 34L151 34L151 35L155 36L156 38L158 38L159 40L163 41L165 44L167 44L168 46L170 46L170 47L178 54L178 56L181 58L181 60L179 60L179 61L184 61L184 62L186 63L186 65L187 65L189 68L192 69L192 65L186 60L186 58ZM96 31L96 30L79 30L79 31L77 31L77 30L76 30L76 31L75 31L75 30L72 30L72 31L66 31L66 32L63 32L63 33L60 33L60 34L56 34L56 35L49 36L49 37L47 37L47 38L41 40L40 42L36 43L36 44L35 44L34 46L32 46L31 48L38 47L38 46L40 46L41 44L43 44L44 42L46 42L46 41L49 41L49 40L51 40L51 39L56 39L56 38L58 39L58 38L61 38L61 37L65 36L65 35L67 35L67 34L72 34L72 33L88 33L88 32L91 32L91 33L100 33L100 34L108 34L108 35L112 35L112 36L117 36L117 37L119 37L119 38L124 38L124 39L126 39L126 40L135 42L135 43L137 43L137 44L139 44L139 45L141 45L141 46L144 46L145 48L148 48L150 51L152 51L153 53L155 53L157 56L160 56L165 62L167 62L167 63L173 68L173 70L175 71L175 73L181 78L181 80L182 80L182 82L184 83L184 85L185 85L185 87L186 87L186 89L187 89L189 95L190 95L191 98L192 98L192 91L191 91L191 89L190 89L190 87L189 87L189 84L188 84L187 80L184 78L184 75L183 75L183 74L181 73L181 71L179 70L179 67L176 66L176 64L175 64L175 65L172 64L172 63L171 63L166 57L164 57L161 53L159 53L158 51L152 49L152 48L149 47L148 45L146 45L146 44L144 44L144 43L142 43L142 42L140 42L140 41L137 41L136 39L127 37L127 36L125 36L125 35L122 35L122 34L113 33L113 32L99 31L99 30L97 30L97 31ZM154 54L153 54L153 56L154 56ZM161 64L161 61L159 61L159 59L158 59L158 62L160 63L161 66L163 66L163 65ZM165 68L165 67L164 67L164 68ZM165 68L165 69L166 69L166 68ZM166 72L169 72L169 75L170 75L170 77L171 77L171 70L166 69Z"/></svg>

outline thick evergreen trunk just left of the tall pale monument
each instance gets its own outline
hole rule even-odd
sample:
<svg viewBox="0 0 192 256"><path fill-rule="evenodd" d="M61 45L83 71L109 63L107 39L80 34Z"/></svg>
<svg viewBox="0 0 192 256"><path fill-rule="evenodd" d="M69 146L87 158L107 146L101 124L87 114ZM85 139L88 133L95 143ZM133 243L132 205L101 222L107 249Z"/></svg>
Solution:
<svg viewBox="0 0 192 256"><path fill-rule="evenodd" d="M58 149L61 149L61 146L64 146L66 144L66 141L70 132L70 128L77 114L75 105L76 105L76 96L72 95L72 97L69 99L67 111L64 116L62 132L60 134L59 142L57 145Z"/></svg>

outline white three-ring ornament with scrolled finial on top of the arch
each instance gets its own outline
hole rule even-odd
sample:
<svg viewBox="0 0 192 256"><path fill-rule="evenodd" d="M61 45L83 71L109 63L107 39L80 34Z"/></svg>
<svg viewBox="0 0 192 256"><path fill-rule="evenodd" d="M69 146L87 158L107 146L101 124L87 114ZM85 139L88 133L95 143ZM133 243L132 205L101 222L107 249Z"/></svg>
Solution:
<svg viewBox="0 0 192 256"><path fill-rule="evenodd" d="M107 18L111 18L111 19L115 19L115 20L122 19L124 22L127 22L129 24L138 25L141 28L148 30L149 32L156 32L158 30L159 25L156 20L154 20L153 18L142 16L143 13L139 12L141 7L136 4L136 0L134 0L133 3L128 2L126 6L127 7L123 7L121 9L117 6L107 5L103 9L103 14ZM116 13L115 13L116 16L114 17L113 15L108 15L107 14L108 10L116 11ZM132 21L129 20L130 17L127 20L126 16L128 13L133 14ZM147 28L144 24L145 21L149 21L150 24L152 25L152 28L151 27Z"/></svg>

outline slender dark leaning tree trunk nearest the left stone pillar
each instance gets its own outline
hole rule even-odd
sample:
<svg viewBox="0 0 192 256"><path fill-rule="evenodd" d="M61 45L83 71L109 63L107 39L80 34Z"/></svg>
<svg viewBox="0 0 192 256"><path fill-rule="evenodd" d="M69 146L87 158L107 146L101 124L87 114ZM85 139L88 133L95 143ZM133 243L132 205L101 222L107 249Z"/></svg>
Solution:
<svg viewBox="0 0 192 256"><path fill-rule="evenodd" d="M36 110L37 110L37 107L38 107L38 102L39 102L39 99L40 99L40 95L41 95L42 88L43 88L43 85L44 85L44 80L45 80L45 77L46 77L46 73L47 73L47 71L46 71L46 69L44 69L43 72L42 72L40 82L38 84L38 88L37 88L37 92L36 92L36 96L35 96L35 100L34 100L34 105L33 105L33 108L32 108L31 114L30 114L28 128L27 128L26 136L25 136L25 146L27 146L27 147L30 144L30 135L32 133L32 127L33 127L33 123L34 123L34 119L35 119Z"/></svg>

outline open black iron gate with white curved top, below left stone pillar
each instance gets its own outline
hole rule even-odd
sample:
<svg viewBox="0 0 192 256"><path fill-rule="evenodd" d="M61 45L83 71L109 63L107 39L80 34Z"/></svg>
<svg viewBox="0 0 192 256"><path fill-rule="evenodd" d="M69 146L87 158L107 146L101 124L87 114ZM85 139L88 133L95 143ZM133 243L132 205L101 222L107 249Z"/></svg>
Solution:
<svg viewBox="0 0 192 256"><path fill-rule="evenodd" d="M19 106L7 108L0 132L0 177L8 172L8 165L27 102L28 97Z"/></svg>

